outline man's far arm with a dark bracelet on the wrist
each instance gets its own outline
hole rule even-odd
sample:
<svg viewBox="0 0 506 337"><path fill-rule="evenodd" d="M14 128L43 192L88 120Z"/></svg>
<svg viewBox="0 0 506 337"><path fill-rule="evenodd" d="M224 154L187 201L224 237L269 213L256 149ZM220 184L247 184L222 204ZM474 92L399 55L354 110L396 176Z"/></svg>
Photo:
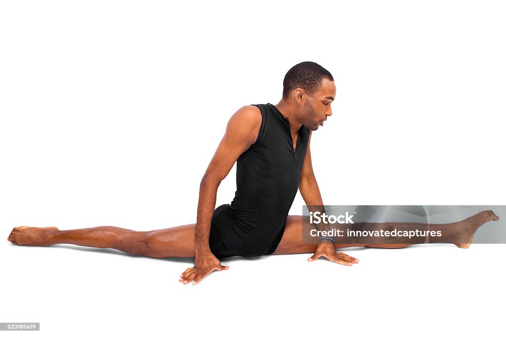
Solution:
<svg viewBox="0 0 506 337"><path fill-rule="evenodd" d="M313 165L311 163L311 134L312 131L309 131L309 141L308 141L308 149L306 152L306 157L304 159L304 163L302 164L301 177L299 179L299 190L301 191L301 196L308 207L308 211L310 212L320 212L320 214L325 213L325 208L323 207L323 200L321 198L320 188L318 187L318 183L316 182L316 177L313 172ZM304 222L304 221L303 221ZM324 224L321 221L319 224L316 224L318 230L324 231L329 230L330 226L328 224ZM303 230L306 228L303 228ZM320 235L318 235L320 236ZM322 235L323 236L323 235ZM333 242L329 239L321 239L318 243L318 246L315 250L315 254L308 259L308 261L315 261L319 257L325 256L327 259L338 262L340 264L351 266L352 263L357 263L358 259L352 258L344 253L336 253Z"/></svg>

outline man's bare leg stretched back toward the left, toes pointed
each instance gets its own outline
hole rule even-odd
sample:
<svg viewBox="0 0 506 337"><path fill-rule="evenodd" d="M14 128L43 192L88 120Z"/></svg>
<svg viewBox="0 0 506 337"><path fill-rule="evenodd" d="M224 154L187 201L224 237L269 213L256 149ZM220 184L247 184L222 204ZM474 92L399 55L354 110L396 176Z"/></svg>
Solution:
<svg viewBox="0 0 506 337"><path fill-rule="evenodd" d="M113 248L157 258L195 257L195 224L135 231L113 226L59 230L57 227L16 227L8 240L17 245L73 244Z"/></svg>

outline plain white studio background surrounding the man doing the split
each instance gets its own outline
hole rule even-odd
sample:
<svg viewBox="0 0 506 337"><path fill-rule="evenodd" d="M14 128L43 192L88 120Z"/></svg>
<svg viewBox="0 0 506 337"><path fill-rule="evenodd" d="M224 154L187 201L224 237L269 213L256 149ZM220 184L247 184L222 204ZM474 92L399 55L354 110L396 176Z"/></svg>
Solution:
<svg viewBox="0 0 506 337"><path fill-rule="evenodd" d="M506 205L505 14L499 1L3 1L0 321L45 336L500 334L503 245L347 249L352 267L230 258L193 286L178 282L192 259L6 238L194 223L228 119L278 103L302 61L337 88L311 143L325 204ZM234 192L235 166L217 206Z"/></svg>

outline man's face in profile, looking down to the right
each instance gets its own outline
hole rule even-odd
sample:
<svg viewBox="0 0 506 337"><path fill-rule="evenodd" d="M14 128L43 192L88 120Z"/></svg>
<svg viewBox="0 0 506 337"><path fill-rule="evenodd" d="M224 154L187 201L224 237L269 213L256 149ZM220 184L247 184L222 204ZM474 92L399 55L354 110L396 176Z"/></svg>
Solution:
<svg viewBox="0 0 506 337"><path fill-rule="evenodd" d="M318 130L328 116L332 116L330 104L335 98L334 81L324 78L313 97L305 95L299 120L309 130Z"/></svg>

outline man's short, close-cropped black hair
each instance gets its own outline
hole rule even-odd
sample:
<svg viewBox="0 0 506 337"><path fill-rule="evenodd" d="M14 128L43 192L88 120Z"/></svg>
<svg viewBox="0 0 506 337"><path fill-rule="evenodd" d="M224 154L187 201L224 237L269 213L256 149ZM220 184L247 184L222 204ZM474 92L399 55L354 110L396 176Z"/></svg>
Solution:
<svg viewBox="0 0 506 337"><path fill-rule="evenodd" d="M324 78L334 80L330 72L318 63L305 61L294 65L283 79L283 101L287 101L290 91L297 88L303 88L313 97Z"/></svg>

